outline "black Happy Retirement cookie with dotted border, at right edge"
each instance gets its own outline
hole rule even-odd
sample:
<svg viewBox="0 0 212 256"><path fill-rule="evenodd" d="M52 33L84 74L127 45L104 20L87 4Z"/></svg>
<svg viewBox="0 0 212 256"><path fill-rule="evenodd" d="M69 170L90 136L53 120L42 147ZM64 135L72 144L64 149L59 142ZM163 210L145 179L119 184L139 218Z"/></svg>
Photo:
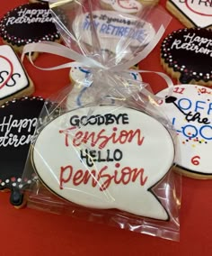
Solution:
<svg viewBox="0 0 212 256"><path fill-rule="evenodd" d="M180 84L212 86L212 31L182 29L162 42L163 69Z"/></svg>

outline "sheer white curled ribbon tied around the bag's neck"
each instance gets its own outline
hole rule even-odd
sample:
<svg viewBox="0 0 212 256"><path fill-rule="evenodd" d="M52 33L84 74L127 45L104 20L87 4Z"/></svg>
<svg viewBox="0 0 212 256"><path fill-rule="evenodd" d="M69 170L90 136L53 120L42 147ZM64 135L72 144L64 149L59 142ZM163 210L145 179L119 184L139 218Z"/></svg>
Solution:
<svg viewBox="0 0 212 256"><path fill-rule="evenodd" d="M134 59L130 59L126 63L119 64L115 67L106 67L106 66L102 65L102 63L100 63L99 61L97 61L95 59L92 59L88 56L79 54L79 53L75 52L74 50L67 48L66 46L64 46L62 44L59 44L57 42L50 42L50 41L30 43L30 44L25 45L22 50L22 60L26 54L29 54L29 59L31 61L31 64L35 68L41 69L41 70L66 69L66 68L74 68L74 67L78 67L78 66L88 69L91 73L95 73L95 72L100 73L102 70L103 76L105 76L106 73L108 74L107 75L108 78L110 76L110 82L112 82L114 77L116 77L116 78L114 79L113 82L116 82L118 75L119 75L119 78L122 78L121 80L118 79L119 80L118 82L120 82L120 81L123 81L123 78L126 77L126 73L130 73L132 71L132 69L130 69L130 67L133 67L139 61L141 61L142 59L145 59L146 56L155 48L155 45L161 39L163 32L164 32L164 28L162 25L160 27L160 29L158 30L158 32L156 33L155 39L153 41L151 41L146 46L146 48L144 50L142 50L140 53L138 53ZM36 66L33 63L33 60L31 59L31 53L34 51L56 54L58 56L65 57L66 59L71 59L72 61L62 64L62 65L59 65L59 66L56 66L56 67L40 68L40 67ZM173 88L172 79L169 78L168 76L166 76L164 73L148 71L148 70L139 70L139 69L137 70L137 72L139 72L139 73L155 73L155 74L161 76L165 80L167 86L169 87L168 96L172 95L172 88ZM116 75L116 76L113 76L113 75ZM93 78L93 77L94 76L91 76L91 78ZM91 84L92 83L93 83L93 81L91 81ZM110 85L108 85L108 86L110 86ZM156 102L157 100L161 99L161 97L151 94L148 90L146 90L146 88L144 86L140 87L140 89L142 89L142 93L144 95L146 95L152 102L153 101Z"/></svg>

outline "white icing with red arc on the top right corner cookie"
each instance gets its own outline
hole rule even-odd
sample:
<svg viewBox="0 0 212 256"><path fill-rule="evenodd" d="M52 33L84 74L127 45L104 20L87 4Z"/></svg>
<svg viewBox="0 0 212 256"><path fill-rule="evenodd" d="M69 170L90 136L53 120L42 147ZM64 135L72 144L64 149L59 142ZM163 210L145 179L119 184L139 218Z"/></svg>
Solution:
<svg viewBox="0 0 212 256"><path fill-rule="evenodd" d="M212 25L211 0L168 0L169 3L185 15L196 27L209 27Z"/></svg>

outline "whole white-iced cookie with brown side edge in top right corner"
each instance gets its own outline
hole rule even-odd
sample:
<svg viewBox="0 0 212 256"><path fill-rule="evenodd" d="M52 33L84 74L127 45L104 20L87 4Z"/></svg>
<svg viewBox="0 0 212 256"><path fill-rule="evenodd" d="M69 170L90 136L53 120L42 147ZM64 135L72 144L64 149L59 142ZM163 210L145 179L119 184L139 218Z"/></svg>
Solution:
<svg viewBox="0 0 212 256"><path fill-rule="evenodd" d="M211 0L167 0L166 8L188 28L212 26Z"/></svg>

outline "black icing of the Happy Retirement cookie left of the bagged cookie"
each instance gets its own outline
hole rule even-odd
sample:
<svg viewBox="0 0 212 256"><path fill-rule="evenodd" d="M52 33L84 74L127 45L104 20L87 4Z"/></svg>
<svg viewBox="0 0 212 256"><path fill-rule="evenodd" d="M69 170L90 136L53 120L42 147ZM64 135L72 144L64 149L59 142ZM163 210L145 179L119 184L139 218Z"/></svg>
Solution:
<svg viewBox="0 0 212 256"><path fill-rule="evenodd" d="M12 190L11 203L22 205L22 172L44 101L22 97L0 107L0 189ZM31 176L24 182L31 184Z"/></svg>

